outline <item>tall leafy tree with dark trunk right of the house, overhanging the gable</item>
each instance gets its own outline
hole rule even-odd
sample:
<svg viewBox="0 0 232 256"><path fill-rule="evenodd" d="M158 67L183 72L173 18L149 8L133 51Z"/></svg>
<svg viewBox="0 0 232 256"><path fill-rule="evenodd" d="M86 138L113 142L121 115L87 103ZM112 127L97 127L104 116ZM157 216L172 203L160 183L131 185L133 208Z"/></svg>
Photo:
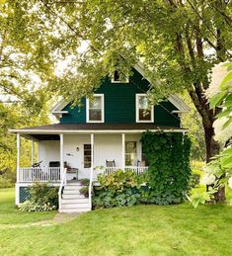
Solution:
<svg viewBox="0 0 232 256"><path fill-rule="evenodd" d="M231 1L40 2L62 20L77 41L86 40L90 45L85 58L74 57L78 79L76 86L69 82L67 94L81 84L93 86L93 81L116 68L127 74L141 59L153 82L152 100L188 90L202 119L206 161L219 152L212 126L217 109L210 110L204 90L209 86L211 67L232 56ZM66 77L75 80L75 72L67 72Z"/></svg>

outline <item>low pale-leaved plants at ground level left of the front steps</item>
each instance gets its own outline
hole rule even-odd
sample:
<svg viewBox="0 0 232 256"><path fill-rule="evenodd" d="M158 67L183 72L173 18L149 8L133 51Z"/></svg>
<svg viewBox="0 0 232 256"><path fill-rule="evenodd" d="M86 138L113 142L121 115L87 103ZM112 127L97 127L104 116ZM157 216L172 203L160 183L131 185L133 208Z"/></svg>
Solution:
<svg viewBox="0 0 232 256"><path fill-rule="evenodd" d="M39 204L34 201L27 200L19 205L19 209L21 212L46 212L55 210L56 207L51 206L49 203Z"/></svg>

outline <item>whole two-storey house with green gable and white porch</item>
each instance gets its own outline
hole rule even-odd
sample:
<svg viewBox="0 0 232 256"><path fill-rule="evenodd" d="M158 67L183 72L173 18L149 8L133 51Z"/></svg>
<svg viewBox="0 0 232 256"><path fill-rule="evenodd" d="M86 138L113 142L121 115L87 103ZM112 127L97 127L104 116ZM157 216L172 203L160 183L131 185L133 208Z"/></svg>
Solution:
<svg viewBox="0 0 232 256"><path fill-rule="evenodd" d="M81 107L57 102L51 112L58 124L12 129L17 133L18 149L16 205L27 198L27 187L38 181L59 187L59 212L90 211L92 186L99 173L108 175L116 169L130 169L138 175L145 172L142 132L185 133L180 116L190 110L179 97L171 96L148 111L149 85L137 64L126 81L119 81L117 72L113 79L106 78L93 100L81 99ZM32 140L32 166L21 166L21 136ZM33 167L35 143L39 167ZM78 180L83 178L90 179L89 198L79 193Z"/></svg>

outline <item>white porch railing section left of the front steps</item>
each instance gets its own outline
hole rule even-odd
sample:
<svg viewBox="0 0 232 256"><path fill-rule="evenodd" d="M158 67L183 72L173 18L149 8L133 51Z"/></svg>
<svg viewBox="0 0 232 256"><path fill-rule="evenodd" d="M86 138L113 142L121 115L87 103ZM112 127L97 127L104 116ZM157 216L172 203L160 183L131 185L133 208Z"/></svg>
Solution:
<svg viewBox="0 0 232 256"><path fill-rule="evenodd" d="M18 182L60 182L60 167L19 168Z"/></svg>

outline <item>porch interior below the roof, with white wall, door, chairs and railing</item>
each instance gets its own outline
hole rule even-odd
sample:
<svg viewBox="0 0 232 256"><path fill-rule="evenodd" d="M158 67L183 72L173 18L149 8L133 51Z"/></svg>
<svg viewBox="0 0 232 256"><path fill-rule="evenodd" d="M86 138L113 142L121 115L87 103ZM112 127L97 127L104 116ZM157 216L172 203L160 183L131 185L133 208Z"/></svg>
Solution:
<svg viewBox="0 0 232 256"><path fill-rule="evenodd" d="M17 133L17 183L60 183L64 171L67 181L90 179L91 172L97 181L100 173L122 169L139 175L148 168L139 133L22 135L32 141L32 165L21 165L21 134Z"/></svg>

